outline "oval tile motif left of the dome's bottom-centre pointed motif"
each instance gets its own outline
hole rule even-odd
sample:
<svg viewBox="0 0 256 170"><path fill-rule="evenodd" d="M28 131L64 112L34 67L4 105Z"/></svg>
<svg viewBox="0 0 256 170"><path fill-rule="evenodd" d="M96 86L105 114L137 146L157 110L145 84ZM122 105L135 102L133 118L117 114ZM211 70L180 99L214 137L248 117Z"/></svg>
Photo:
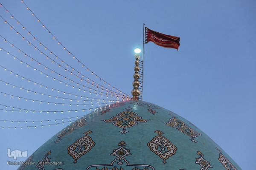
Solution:
<svg viewBox="0 0 256 170"><path fill-rule="evenodd" d="M77 139L76 142L74 142L67 148L68 154L72 156L73 159L75 159L75 161L73 161L74 164L76 164L77 159L79 159L85 153L89 152L95 145L95 142L93 142L91 137L88 136L88 134L90 133L93 132L88 130L87 132L84 133L85 136Z"/></svg>

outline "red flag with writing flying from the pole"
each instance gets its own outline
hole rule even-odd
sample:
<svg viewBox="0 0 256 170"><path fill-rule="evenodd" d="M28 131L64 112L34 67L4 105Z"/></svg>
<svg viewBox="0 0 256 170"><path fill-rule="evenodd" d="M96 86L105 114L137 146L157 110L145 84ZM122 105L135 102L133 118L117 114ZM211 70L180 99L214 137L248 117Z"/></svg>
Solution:
<svg viewBox="0 0 256 170"><path fill-rule="evenodd" d="M152 41L161 47L175 48L177 50L179 50L180 46L180 37L162 34L145 27L145 44L149 41Z"/></svg>

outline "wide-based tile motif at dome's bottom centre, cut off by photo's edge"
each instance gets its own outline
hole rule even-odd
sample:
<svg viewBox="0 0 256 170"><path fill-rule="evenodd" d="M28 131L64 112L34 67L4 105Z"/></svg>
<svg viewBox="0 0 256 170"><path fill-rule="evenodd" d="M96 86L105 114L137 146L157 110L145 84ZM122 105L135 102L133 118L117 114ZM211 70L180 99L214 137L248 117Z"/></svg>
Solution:
<svg viewBox="0 0 256 170"><path fill-rule="evenodd" d="M125 148L124 141L119 142L117 149L110 154L116 158L110 164L94 164L86 168L86 170L155 170L154 167L147 164L130 164L125 156L131 156L129 149Z"/></svg>

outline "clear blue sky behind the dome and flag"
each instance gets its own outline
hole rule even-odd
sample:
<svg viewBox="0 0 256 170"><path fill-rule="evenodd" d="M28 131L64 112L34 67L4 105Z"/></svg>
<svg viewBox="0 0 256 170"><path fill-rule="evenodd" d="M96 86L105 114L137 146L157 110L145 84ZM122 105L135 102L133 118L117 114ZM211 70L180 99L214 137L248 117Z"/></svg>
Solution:
<svg viewBox="0 0 256 170"><path fill-rule="evenodd" d="M88 110L64 113L19 113L18 111L12 113L12 111L6 112L6 109L68 111L96 107L96 104L91 106L90 101L86 101L88 104L86 107L80 105L84 104L83 101L77 102L81 97L69 96L67 95L69 93L93 97L94 100L106 99L101 98L100 95L89 94L88 91L84 93L83 90L79 91L78 88L70 85L66 86L64 82L79 87L76 83L52 73L51 69L91 87L85 80L81 81L70 72L64 71L64 68L58 67L57 62L64 65L61 60L69 64L68 67L64 65L66 69L75 68L80 71L80 76L93 79L95 82L92 88L97 82L104 85L99 79L101 77L110 83L110 88L114 86L131 95L134 48L143 46L143 23L145 23L145 26L152 30L180 37L180 48L179 51L162 48L152 42L145 45L143 100L169 109L192 122L225 150L242 169L255 168L253 163L256 152L256 2L254 0L210 2L24 0L24 2L35 15L32 15L20 0L0 1L30 32L28 34L26 29L17 24L15 18L0 6L0 15L13 27L11 29L10 25L0 18L0 35L26 54L24 56L24 53L18 52L17 48L7 41L4 42L0 37L0 47L9 52L7 54L4 50L0 51L0 65L7 68L7 71L4 71L4 68L0 67L1 120L54 120L89 113ZM58 41L53 39L35 16L86 67L82 67L80 62L64 50L63 46L58 45ZM14 29L19 34L16 34ZM31 44L22 40L20 34ZM58 59L55 59L55 55L50 54L50 51L45 50L42 45L40 46L37 40L33 40L31 34L56 54ZM40 54L32 44L56 61L52 63L52 59ZM15 55L16 59L10 54ZM40 65L35 60L40 62ZM29 67L24 62L28 63ZM30 66L52 77L46 77ZM87 71L87 68L94 74ZM18 76L16 77L14 73ZM6 85L5 82L8 84ZM48 88L40 87L40 84ZM18 87L29 89L29 92ZM106 87L108 88L108 85ZM52 91L51 88L65 91L67 94ZM32 91L36 91L36 94ZM15 96L11 97L8 94ZM21 98L18 99L16 96ZM54 96L58 96L58 99ZM66 99L63 101L63 98ZM73 101L67 98L72 98ZM40 104L29 99L53 103ZM72 105L55 105L63 102ZM11 107L6 108L6 105ZM64 119L63 122L65 121L70 120ZM60 123L62 120L56 122ZM31 155L68 123L29 129L27 127L2 129L2 127L42 124L55 124L55 121L34 124L0 121L1 168L17 169L17 166L6 165L6 161L14 161L7 156L7 148L28 150L28 155ZM17 161L24 160L26 158L17 158Z"/></svg>

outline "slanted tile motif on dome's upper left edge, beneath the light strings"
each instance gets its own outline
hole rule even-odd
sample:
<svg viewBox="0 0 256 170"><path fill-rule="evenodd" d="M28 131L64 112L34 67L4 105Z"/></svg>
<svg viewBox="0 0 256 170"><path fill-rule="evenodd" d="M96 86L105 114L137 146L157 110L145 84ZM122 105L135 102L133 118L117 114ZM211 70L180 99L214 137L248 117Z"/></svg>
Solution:
<svg viewBox="0 0 256 170"><path fill-rule="evenodd" d="M83 127L84 125L86 125L86 118L82 117L78 120L76 120L76 122L73 122L71 125L67 126L66 128L64 128L63 130L61 130L61 132L59 132L58 134L56 134L56 136L59 138L58 140L55 141L55 143L60 142L61 138L63 136L66 136L67 134L73 132L73 130L76 130L78 127Z"/></svg>

